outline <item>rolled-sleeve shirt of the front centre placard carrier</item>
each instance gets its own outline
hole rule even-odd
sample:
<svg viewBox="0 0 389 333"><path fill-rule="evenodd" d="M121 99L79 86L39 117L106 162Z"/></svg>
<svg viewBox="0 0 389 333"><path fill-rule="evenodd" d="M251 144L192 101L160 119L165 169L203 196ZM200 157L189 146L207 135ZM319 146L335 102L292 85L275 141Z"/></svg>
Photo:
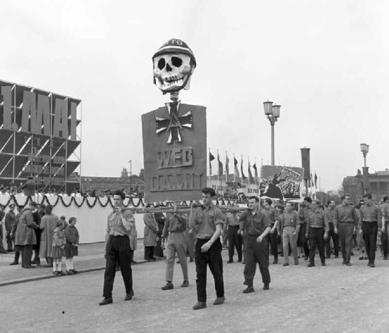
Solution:
<svg viewBox="0 0 389 333"><path fill-rule="evenodd" d="M196 230L198 239L210 239L218 224L223 224L223 213L212 202L208 207L197 207L190 217L191 229Z"/></svg>

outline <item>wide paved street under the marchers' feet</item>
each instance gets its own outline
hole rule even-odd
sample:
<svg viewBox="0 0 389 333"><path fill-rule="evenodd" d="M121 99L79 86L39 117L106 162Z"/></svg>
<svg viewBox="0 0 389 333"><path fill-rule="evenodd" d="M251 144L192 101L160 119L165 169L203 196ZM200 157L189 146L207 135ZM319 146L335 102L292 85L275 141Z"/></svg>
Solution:
<svg viewBox="0 0 389 333"><path fill-rule="evenodd" d="M226 262L226 250L223 257ZM134 265L135 297L124 302L119 274L114 304L104 307L98 306L103 270L1 286L0 331L388 332L389 262L378 257L376 264L370 268L366 261L354 260L346 267L340 259L331 259L326 267L307 268L305 262L270 265L270 290L262 290L257 274L255 293L246 295L244 266L225 263L225 304L212 305L215 293L209 275L208 308L198 311L192 310L194 263L189 263L190 286L179 287L182 275L176 264L175 289L168 291L160 290L165 283L163 261Z"/></svg>

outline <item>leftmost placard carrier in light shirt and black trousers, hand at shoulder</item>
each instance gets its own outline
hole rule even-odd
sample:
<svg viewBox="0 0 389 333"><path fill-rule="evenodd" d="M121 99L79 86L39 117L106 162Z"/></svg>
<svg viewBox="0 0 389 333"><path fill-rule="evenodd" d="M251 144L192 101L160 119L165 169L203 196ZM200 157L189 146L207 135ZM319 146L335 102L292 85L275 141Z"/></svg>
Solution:
<svg viewBox="0 0 389 333"><path fill-rule="evenodd" d="M104 273L104 299L99 305L111 304L113 281L115 280L116 263L119 262L120 271L125 286L124 300L134 296L132 289L132 270L130 255L129 234L134 226L135 219L130 210L125 210L123 200L125 195L117 190L113 193L114 210L108 215L106 229L106 271Z"/></svg>

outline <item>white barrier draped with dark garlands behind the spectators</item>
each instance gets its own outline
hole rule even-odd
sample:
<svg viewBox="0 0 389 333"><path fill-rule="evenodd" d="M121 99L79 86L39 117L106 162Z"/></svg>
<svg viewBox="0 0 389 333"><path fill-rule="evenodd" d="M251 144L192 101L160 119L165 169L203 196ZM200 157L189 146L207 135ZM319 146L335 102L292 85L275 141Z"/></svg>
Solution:
<svg viewBox="0 0 389 333"><path fill-rule="evenodd" d="M108 203L106 205L108 197L99 198L101 204L99 201L95 202L95 198L86 198L88 200L89 205L95 205L90 208L88 206L87 202L83 202L83 197L74 197L74 200L77 202L78 205L81 205L81 207L77 207L77 205L74 202L71 202L71 197L64 196L62 197L62 200L58 200L56 196L49 196L47 197L47 200L49 200L50 204L54 206L54 204L57 202L57 204L53 207L53 214L57 215L58 217L61 215L64 215L66 217L66 220L69 221L69 218L71 216L74 216L77 218L77 225L76 228L78 229L78 232L80 234L80 243L96 243L96 242L104 242L105 235L106 235L106 227L107 227L107 216L112 211L112 206ZM9 195L0 195L0 204L6 205L8 203L8 206L11 204L16 205L24 205L27 200L27 197L24 195L15 195L15 200L11 198ZM41 203L43 200L42 196L35 196L33 197L33 200L37 203ZM124 204L127 205L128 198L124 200ZM133 202L137 205L139 199L132 199ZM63 202L62 202L63 201ZM47 201L44 200L43 202L45 205L47 205ZM65 205L69 205L69 207L66 207ZM102 205L106 205L106 207L103 207ZM142 204L141 206L142 207ZM7 213L9 210L8 207L4 208L4 212ZM138 231L138 238L143 238L143 214L135 214L135 224ZM2 220L4 222L4 218ZM4 248L6 248L6 241L5 241L5 226L3 223L3 245Z"/></svg>

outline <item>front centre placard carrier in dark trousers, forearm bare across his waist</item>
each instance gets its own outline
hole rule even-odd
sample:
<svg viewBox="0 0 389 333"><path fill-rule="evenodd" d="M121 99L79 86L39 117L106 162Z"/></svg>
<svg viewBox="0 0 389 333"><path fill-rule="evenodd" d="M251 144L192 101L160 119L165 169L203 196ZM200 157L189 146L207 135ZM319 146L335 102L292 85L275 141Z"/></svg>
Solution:
<svg viewBox="0 0 389 333"><path fill-rule="evenodd" d="M193 310L207 307L207 265L210 266L215 281L216 299L214 305L224 303L224 281L222 243L223 213L213 203L215 191L206 187L202 189L203 205L196 208L190 216L191 229L195 230L195 264L197 303Z"/></svg>

